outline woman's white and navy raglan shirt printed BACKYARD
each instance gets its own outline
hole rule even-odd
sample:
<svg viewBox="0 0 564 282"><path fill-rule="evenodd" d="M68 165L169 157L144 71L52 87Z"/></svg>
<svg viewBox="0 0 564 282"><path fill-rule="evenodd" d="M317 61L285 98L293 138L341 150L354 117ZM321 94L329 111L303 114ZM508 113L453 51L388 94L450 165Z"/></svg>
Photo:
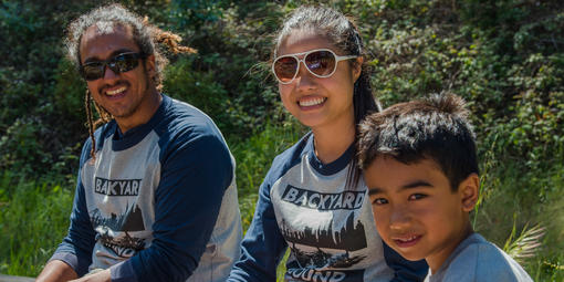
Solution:
<svg viewBox="0 0 564 282"><path fill-rule="evenodd" d="M422 281L424 261L410 262L386 249L364 181L345 187L352 158L353 146L322 164L311 134L279 155L260 187L228 281L275 281L288 248L285 281Z"/></svg>

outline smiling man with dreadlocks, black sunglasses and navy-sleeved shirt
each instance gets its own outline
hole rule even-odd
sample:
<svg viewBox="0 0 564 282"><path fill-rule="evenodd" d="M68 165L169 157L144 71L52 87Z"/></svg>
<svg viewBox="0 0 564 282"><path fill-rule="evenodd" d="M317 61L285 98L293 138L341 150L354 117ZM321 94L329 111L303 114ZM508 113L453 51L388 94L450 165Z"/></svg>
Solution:
<svg viewBox="0 0 564 282"><path fill-rule="evenodd" d="M159 92L155 42L194 50L118 4L67 34L91 136L69 234L38 281L224 281L242 233L234 160L207 115Z"/></svg>

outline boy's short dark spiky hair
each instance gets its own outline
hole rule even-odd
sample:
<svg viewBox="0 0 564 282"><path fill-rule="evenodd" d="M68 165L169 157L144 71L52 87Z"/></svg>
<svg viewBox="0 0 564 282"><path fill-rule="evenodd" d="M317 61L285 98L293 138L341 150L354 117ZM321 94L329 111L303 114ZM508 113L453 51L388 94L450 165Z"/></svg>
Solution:
<svg viewBox="0 0 564 282"><path fill-rule="evenodd" d="M358 165L389 156L404 164L435 160L452 191L479 174L476 142L466 102L453 94L431 95L393 105L359 125Z"/></svg>

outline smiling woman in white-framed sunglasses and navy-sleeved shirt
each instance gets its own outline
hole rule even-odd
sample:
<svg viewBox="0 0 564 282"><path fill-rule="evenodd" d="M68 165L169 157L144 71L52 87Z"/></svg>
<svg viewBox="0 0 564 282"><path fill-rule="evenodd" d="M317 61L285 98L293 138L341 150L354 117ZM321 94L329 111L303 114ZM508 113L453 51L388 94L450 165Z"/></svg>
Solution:
<svg viewBox="0 0 564 282"><path fill-rule="evenodd" d="M355 25L323 7L297 8L278 34L272 71L284 107L311 128L279 155L259 191L229 281L420 281L378 236L355 160L357 124L377 111Z"/></svg>

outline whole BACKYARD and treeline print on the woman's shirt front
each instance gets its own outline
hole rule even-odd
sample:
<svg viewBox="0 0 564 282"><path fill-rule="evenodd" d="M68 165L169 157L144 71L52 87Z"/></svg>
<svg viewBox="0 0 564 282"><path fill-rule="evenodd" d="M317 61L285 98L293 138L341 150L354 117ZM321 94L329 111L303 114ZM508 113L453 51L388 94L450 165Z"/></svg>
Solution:
<svg viewBox="0 0 564 282"><path fill-rule="evenodd" d="M364 270L344 270L359 263L366 254L355 251L367 248L364 224L355 219L355 210L362 208L365 192L344 191L321 194L286 186L282 200L301 208L332 212L351 210L345 222L338 227L334 220L318 227L290 226L282 219L280 230L289 242L295 259L286 265L286 278L297 281L363 281Z"/></svg>

